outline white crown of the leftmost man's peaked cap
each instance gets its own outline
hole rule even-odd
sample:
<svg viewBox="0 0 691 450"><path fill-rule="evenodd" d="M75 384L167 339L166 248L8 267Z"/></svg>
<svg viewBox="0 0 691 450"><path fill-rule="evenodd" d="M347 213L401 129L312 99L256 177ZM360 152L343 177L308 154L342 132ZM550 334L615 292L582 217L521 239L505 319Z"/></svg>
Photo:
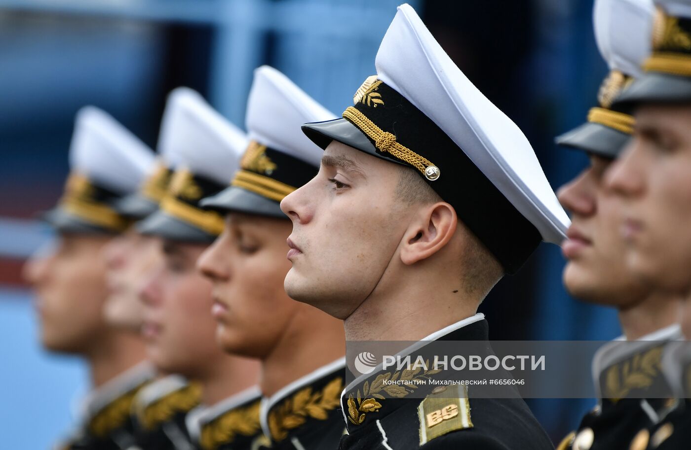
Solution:
<svg viewBox="0 0 691 450"><path fill-rule="evenodd" d="M95 106L77 113L70 168L120 195L135 192L153 165L151 148Z"/></svg>

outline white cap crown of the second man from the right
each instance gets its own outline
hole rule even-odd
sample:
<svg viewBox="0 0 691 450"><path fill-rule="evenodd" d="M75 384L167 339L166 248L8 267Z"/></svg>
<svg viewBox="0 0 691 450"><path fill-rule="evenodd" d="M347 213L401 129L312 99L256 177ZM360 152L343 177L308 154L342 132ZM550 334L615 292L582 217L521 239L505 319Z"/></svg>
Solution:
<svg viewBox="0 0 691 450"><path fill-rule="evenodd" d="M610 70L639 77L651 51L652 0L595 0L593 26Z"/></svg>

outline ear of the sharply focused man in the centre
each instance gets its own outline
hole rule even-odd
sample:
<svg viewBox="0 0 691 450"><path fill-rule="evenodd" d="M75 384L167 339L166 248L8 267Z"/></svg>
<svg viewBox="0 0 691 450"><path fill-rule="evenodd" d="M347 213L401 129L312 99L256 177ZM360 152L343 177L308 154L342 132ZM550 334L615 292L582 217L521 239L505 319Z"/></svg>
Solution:
<svg viewBox="0 0 691 450"><path fill-rule="evenodd" d="M415 264L444 248L453 237L457 223L456 211L448 203L439 202L420 208L404 235L401 248L403 264Z"/></svg>

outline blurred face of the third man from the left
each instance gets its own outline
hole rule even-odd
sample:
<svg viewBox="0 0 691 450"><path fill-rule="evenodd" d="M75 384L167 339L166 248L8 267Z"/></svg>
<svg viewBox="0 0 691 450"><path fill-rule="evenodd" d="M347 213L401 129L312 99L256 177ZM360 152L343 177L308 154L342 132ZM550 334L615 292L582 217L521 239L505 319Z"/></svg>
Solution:
<svg viewBox="0 0 691 450"><path fill-rule="evenodd" d="M214 337L211 283L196 271L207 246L157 240L161 258L141 293L147 355L161 371L194 378L223 355Z"/></svg>

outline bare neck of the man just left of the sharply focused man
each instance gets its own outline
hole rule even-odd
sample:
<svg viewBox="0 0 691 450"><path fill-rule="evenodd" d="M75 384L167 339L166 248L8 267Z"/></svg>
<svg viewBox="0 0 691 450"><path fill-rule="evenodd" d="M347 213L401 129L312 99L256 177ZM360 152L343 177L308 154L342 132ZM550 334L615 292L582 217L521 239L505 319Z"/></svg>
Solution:
<svg viewBox="0 0 691 450"><path fill-rule="evenodd" d="M300 304L283 335L261 362L259 385L271 396L345 355L343 322L307 304Z"/></svg>

